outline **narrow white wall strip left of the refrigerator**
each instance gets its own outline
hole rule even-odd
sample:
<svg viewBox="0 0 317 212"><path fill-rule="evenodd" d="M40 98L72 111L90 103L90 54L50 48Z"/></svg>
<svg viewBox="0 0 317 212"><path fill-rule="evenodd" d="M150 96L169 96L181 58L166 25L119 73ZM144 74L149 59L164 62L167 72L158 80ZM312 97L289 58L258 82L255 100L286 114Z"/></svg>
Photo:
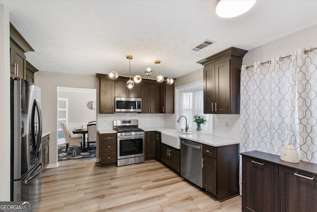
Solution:
<svg viewBox="0 0 317 212"><path fill-rule="evenodd" d="M0 4L0 201L10 201L10 25Z"/></svg>

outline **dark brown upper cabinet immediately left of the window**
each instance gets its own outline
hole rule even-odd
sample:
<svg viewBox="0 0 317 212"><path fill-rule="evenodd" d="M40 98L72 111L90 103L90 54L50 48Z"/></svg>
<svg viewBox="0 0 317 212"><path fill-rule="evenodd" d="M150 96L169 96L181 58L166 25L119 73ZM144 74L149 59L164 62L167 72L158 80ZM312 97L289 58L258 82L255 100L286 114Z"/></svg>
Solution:
<svg viewBox="0 0 317 212"><path fill-rule="evenodd" d="M159 113L174 113L174 88L174 83L171 85L165 82L160 83Z"/></svg>

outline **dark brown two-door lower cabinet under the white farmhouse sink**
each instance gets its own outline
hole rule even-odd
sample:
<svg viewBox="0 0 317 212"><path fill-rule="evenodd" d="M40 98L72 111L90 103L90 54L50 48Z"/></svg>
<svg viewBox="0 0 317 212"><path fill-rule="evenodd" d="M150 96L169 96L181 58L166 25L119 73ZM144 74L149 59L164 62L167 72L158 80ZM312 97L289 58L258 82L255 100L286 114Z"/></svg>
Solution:
<svg viewBox="0 0 317 212"><path fill-rule="evenodd" d="M160 161L180 173L180 150L161 143Z"/></svg>

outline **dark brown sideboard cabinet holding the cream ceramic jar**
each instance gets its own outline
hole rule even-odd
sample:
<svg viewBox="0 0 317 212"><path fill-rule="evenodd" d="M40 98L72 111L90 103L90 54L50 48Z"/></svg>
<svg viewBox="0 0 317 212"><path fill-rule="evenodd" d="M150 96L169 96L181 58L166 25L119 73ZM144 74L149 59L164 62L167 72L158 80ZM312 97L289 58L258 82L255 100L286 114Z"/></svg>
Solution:
<svg viewBox="0 0 317 212"><path fill-rule="evenodd" d="M317 212L317 164L261 151L240 154L242 211Z"/></svg>

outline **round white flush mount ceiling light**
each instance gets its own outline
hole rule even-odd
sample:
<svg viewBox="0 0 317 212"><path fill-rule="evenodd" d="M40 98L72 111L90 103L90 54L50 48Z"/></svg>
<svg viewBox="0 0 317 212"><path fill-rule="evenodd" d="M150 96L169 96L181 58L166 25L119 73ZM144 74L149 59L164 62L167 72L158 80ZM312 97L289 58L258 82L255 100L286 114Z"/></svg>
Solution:
<svg viewBox="0 0 317 212"><path fill-rule="evenodd" d="M223 18L241 15L251 9L256 0L217 0L216 13Z"/></svg>

